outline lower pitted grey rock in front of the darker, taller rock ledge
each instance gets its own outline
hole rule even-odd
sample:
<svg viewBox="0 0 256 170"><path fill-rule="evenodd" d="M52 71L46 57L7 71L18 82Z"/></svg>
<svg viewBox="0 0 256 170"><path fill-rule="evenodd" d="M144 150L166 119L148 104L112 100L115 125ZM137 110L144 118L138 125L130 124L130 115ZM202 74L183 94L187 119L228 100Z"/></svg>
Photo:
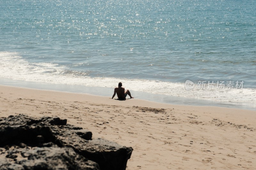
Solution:
<svg viewBox="0 0 256 170"><path fill-rule="evenodd" d="M6 159L0 159L1 169L100 169L96 162L84 158L73 149L60 148L57 145L29 149L9 148L7 152Z"/></svg>

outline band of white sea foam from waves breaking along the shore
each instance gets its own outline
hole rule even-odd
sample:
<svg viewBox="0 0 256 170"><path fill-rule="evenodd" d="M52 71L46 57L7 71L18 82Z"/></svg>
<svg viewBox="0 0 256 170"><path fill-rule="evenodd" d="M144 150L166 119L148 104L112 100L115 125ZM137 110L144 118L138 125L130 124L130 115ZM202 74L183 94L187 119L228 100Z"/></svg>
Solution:
<svg viewBox="0 0 256 170"><path fill-rule="evenodd" d="M79 71L69 70L54 63L30 63L18 53L0 52L0 77L14 80L46 82L55 84L115 87L123 82L125 88L135 91L166 94L197 99L256 103L256 89L224 88L186 90L184 83L146 79L89 77Z"/></svg>

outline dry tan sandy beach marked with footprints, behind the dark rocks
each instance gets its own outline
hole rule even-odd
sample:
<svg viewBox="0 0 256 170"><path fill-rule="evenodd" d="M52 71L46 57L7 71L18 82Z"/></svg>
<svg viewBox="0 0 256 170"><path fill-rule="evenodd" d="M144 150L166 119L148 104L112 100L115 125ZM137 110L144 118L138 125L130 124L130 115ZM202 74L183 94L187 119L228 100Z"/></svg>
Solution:
<svg viewBox="0 0 256 170"><path fill-rule="evenodd" d="M254 169L256 111L0 85L0 117L58 116L132 147L128 170Z"/></svg>

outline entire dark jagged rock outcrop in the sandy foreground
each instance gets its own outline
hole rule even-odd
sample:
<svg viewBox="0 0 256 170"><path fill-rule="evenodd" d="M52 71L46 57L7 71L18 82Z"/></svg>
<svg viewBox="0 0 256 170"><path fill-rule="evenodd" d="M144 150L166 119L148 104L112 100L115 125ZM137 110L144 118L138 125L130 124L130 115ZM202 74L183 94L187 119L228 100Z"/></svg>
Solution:
<svg viewBox="0 0 256 170"><path fill-rule="evenodd" d="M122 170L131 147L67 124L60 118L27 115L0 119L0 169Z"/></svg>

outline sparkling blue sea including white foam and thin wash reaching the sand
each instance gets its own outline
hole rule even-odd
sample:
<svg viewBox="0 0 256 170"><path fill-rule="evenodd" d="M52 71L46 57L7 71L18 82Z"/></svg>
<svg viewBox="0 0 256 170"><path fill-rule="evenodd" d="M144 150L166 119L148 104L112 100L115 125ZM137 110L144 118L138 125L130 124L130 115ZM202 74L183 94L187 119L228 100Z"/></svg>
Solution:
<svg viewBox="0 0 256 170"><path fill-rule="evenodd" d="M0 0L0 84L256 109L255 0ZM87 89L87 90L83 90Z"/></svg>

